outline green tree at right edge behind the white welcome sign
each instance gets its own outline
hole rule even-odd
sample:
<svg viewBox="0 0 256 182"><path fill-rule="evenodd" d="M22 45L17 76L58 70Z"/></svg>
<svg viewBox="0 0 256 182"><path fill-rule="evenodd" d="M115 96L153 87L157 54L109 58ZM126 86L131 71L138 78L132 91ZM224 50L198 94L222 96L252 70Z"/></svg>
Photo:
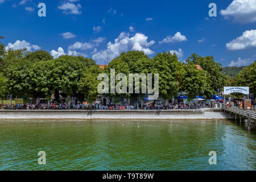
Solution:
<svg viewBox="0 0 256 182"><path fill-rule="evenodd" d="M232 86L249 86L250 93L256 94L256 61L242 69L232 81Z"/></svg>

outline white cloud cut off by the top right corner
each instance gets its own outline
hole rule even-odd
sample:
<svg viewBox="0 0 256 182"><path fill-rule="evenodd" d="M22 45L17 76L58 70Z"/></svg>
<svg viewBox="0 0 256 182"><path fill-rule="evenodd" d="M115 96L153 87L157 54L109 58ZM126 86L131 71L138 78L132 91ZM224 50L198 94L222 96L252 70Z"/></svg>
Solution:
<svg viewBox="0 0 256 182"><path fill-rule="evenodd" d="M225 19L231 16L240 23L256 22L256 1L234 0L225 10L221 10L220 14Z"/></svg>

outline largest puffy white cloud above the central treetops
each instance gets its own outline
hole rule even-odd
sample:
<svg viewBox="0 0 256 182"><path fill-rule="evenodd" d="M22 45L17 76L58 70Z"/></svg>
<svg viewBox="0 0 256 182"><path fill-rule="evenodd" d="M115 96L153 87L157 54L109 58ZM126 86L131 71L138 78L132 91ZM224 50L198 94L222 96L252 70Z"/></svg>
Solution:
<svg viewBox="0 0 256 182"><path fill-rule="evenodd" d="M143 51L147 55L154 53L149 47L152 46L155 41L151 40L147 42L148 37L144 34L135 34L130 38L129 34L126 32L121 32L114 43L109 42L107 44L107 49L95 53L92 58L97 61L97 63L106 63L107 57L109 60L114 59L119 56L121 52L127 51Z"/></svg>

